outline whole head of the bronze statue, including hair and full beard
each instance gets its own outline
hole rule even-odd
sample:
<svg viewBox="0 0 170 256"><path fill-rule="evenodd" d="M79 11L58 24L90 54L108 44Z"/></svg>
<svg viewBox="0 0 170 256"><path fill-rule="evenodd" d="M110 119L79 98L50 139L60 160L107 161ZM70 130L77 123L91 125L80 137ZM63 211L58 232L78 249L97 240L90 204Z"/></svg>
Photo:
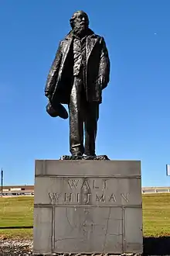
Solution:
<svg viewBox="0 0 170 256"><path fill-rule="evenodd" d="M86 12L76 11L70 19L70 26L73 32L80 35L87 31L89 27L89 18Z"/></svg>

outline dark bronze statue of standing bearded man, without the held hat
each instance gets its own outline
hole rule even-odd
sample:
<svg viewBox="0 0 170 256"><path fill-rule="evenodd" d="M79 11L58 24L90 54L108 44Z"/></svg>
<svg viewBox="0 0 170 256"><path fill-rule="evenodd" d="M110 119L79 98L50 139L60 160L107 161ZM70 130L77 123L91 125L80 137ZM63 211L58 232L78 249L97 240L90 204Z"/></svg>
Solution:
<svg viewBox="0 0 170 256"><path fill-rule="evenodd" d="M75 12L70 26L72 30L59 43L45 95L53 106L68 104L72 156L95 156L99 105L110 78L110 60L104 37L89 28L85 12Z"/></svg>

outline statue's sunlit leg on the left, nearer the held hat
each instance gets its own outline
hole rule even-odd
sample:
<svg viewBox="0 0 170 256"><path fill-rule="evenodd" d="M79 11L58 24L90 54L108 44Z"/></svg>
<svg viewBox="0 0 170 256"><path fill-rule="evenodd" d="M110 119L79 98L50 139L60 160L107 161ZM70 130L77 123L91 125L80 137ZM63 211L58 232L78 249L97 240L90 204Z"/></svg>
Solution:
<svg viewBox="0 0 170 256"><path fill-rule="evenodd" d="M81 91L83 82L80 78L73 78L70 94L70 153L83 155L83 113L81 111Z"/></svg>

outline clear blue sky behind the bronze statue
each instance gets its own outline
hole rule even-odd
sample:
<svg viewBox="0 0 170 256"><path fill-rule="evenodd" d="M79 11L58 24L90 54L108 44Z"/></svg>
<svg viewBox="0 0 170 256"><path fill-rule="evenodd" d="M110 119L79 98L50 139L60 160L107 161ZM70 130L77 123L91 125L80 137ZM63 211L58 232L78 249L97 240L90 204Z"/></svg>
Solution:
<svg viewBox="0 0 170 256"><path fill-rule="evenodd" d="M35 159L69 152L68 119L46 114L44 87L73 12L83 9L109 50L97 154L141 160L142 185L170 185L169 0L2 0L0 167L5 184L33 184Z"/></svg>

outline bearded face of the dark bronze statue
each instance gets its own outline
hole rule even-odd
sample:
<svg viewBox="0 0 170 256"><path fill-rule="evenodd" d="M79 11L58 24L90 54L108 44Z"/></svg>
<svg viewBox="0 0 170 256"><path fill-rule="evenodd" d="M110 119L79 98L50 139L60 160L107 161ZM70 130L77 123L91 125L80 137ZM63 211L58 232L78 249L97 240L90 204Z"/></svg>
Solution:
<svg viewBox="0 0 170 256"><path fill-rule="evenodd" d="M73 16L73 29L83 31L88 28L88 18L84 12L76 12Z"/></svg>

